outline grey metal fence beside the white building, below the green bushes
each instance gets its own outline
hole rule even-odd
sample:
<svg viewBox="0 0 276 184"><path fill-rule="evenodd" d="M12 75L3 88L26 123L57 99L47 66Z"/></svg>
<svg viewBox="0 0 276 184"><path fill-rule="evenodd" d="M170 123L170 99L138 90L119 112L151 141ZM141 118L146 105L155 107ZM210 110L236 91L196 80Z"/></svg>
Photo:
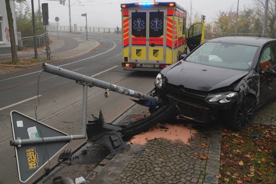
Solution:
<svg viewBox="0 0 276 184"><path fill-rule="evenodd" d="M42 42L46 42L46 34L36 36L37 47L42 46ZM18 50L34 48L34 37L18 38Z"/></svg>

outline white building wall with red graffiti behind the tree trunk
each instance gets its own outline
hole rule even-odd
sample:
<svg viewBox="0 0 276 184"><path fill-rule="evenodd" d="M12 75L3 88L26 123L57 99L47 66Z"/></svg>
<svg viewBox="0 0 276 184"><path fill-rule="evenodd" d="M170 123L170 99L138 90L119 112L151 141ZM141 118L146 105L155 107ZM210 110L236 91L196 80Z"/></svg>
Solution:
<svg viewBox="0 0 276 184"><path fill-rule="evenodd" d="M17 41L17 27L15 16L15 1L10 1L10 8L12 10L13 26L15 29L15 42L18 47ZM7 10L5 1L0 1L0 54L10 54L10 28L8 24Z"/></svg>

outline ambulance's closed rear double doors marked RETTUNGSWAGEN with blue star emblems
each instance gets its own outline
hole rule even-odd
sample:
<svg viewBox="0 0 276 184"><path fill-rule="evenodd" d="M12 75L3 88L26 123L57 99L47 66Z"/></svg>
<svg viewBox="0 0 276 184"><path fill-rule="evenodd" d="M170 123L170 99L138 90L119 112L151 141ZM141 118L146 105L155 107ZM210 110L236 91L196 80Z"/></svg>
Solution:
<svg viewBox="0 0 276 184"><path fill-rule="evenodd" d="M130 10L130 62L141 67L165 63L165 14L165 9Z"/></svg>

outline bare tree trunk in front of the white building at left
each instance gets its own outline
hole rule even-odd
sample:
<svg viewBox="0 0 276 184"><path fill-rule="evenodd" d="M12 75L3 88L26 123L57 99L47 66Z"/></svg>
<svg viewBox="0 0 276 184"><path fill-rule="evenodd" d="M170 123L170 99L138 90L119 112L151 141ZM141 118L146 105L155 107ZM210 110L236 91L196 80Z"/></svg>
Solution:
<svg viewBox="0 0 276 184"><path fill-rule="evenodd" d="M9 30L10 30L10 45L11 45L11 51L12 51L12 61L17 62L18 57L17 57L16 42L15 42L15 29L13 26L13 18L12 18L12 10L10 8L10 0L5 0L5 2L6 2Z"/></svg>

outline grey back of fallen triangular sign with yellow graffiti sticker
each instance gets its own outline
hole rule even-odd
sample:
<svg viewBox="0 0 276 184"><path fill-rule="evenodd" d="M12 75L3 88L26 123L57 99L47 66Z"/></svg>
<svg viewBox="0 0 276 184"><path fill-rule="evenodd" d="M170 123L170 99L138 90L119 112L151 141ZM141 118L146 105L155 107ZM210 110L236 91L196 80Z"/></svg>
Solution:
<svg viewBox="0 0 276 184"><path fill-rule="evenodd" d="M68 136L53 127L36 121L17 111L10 112L13 139L34 139ZM70 140L15 146L19 181L25 183L62 150Z"/></svg>

